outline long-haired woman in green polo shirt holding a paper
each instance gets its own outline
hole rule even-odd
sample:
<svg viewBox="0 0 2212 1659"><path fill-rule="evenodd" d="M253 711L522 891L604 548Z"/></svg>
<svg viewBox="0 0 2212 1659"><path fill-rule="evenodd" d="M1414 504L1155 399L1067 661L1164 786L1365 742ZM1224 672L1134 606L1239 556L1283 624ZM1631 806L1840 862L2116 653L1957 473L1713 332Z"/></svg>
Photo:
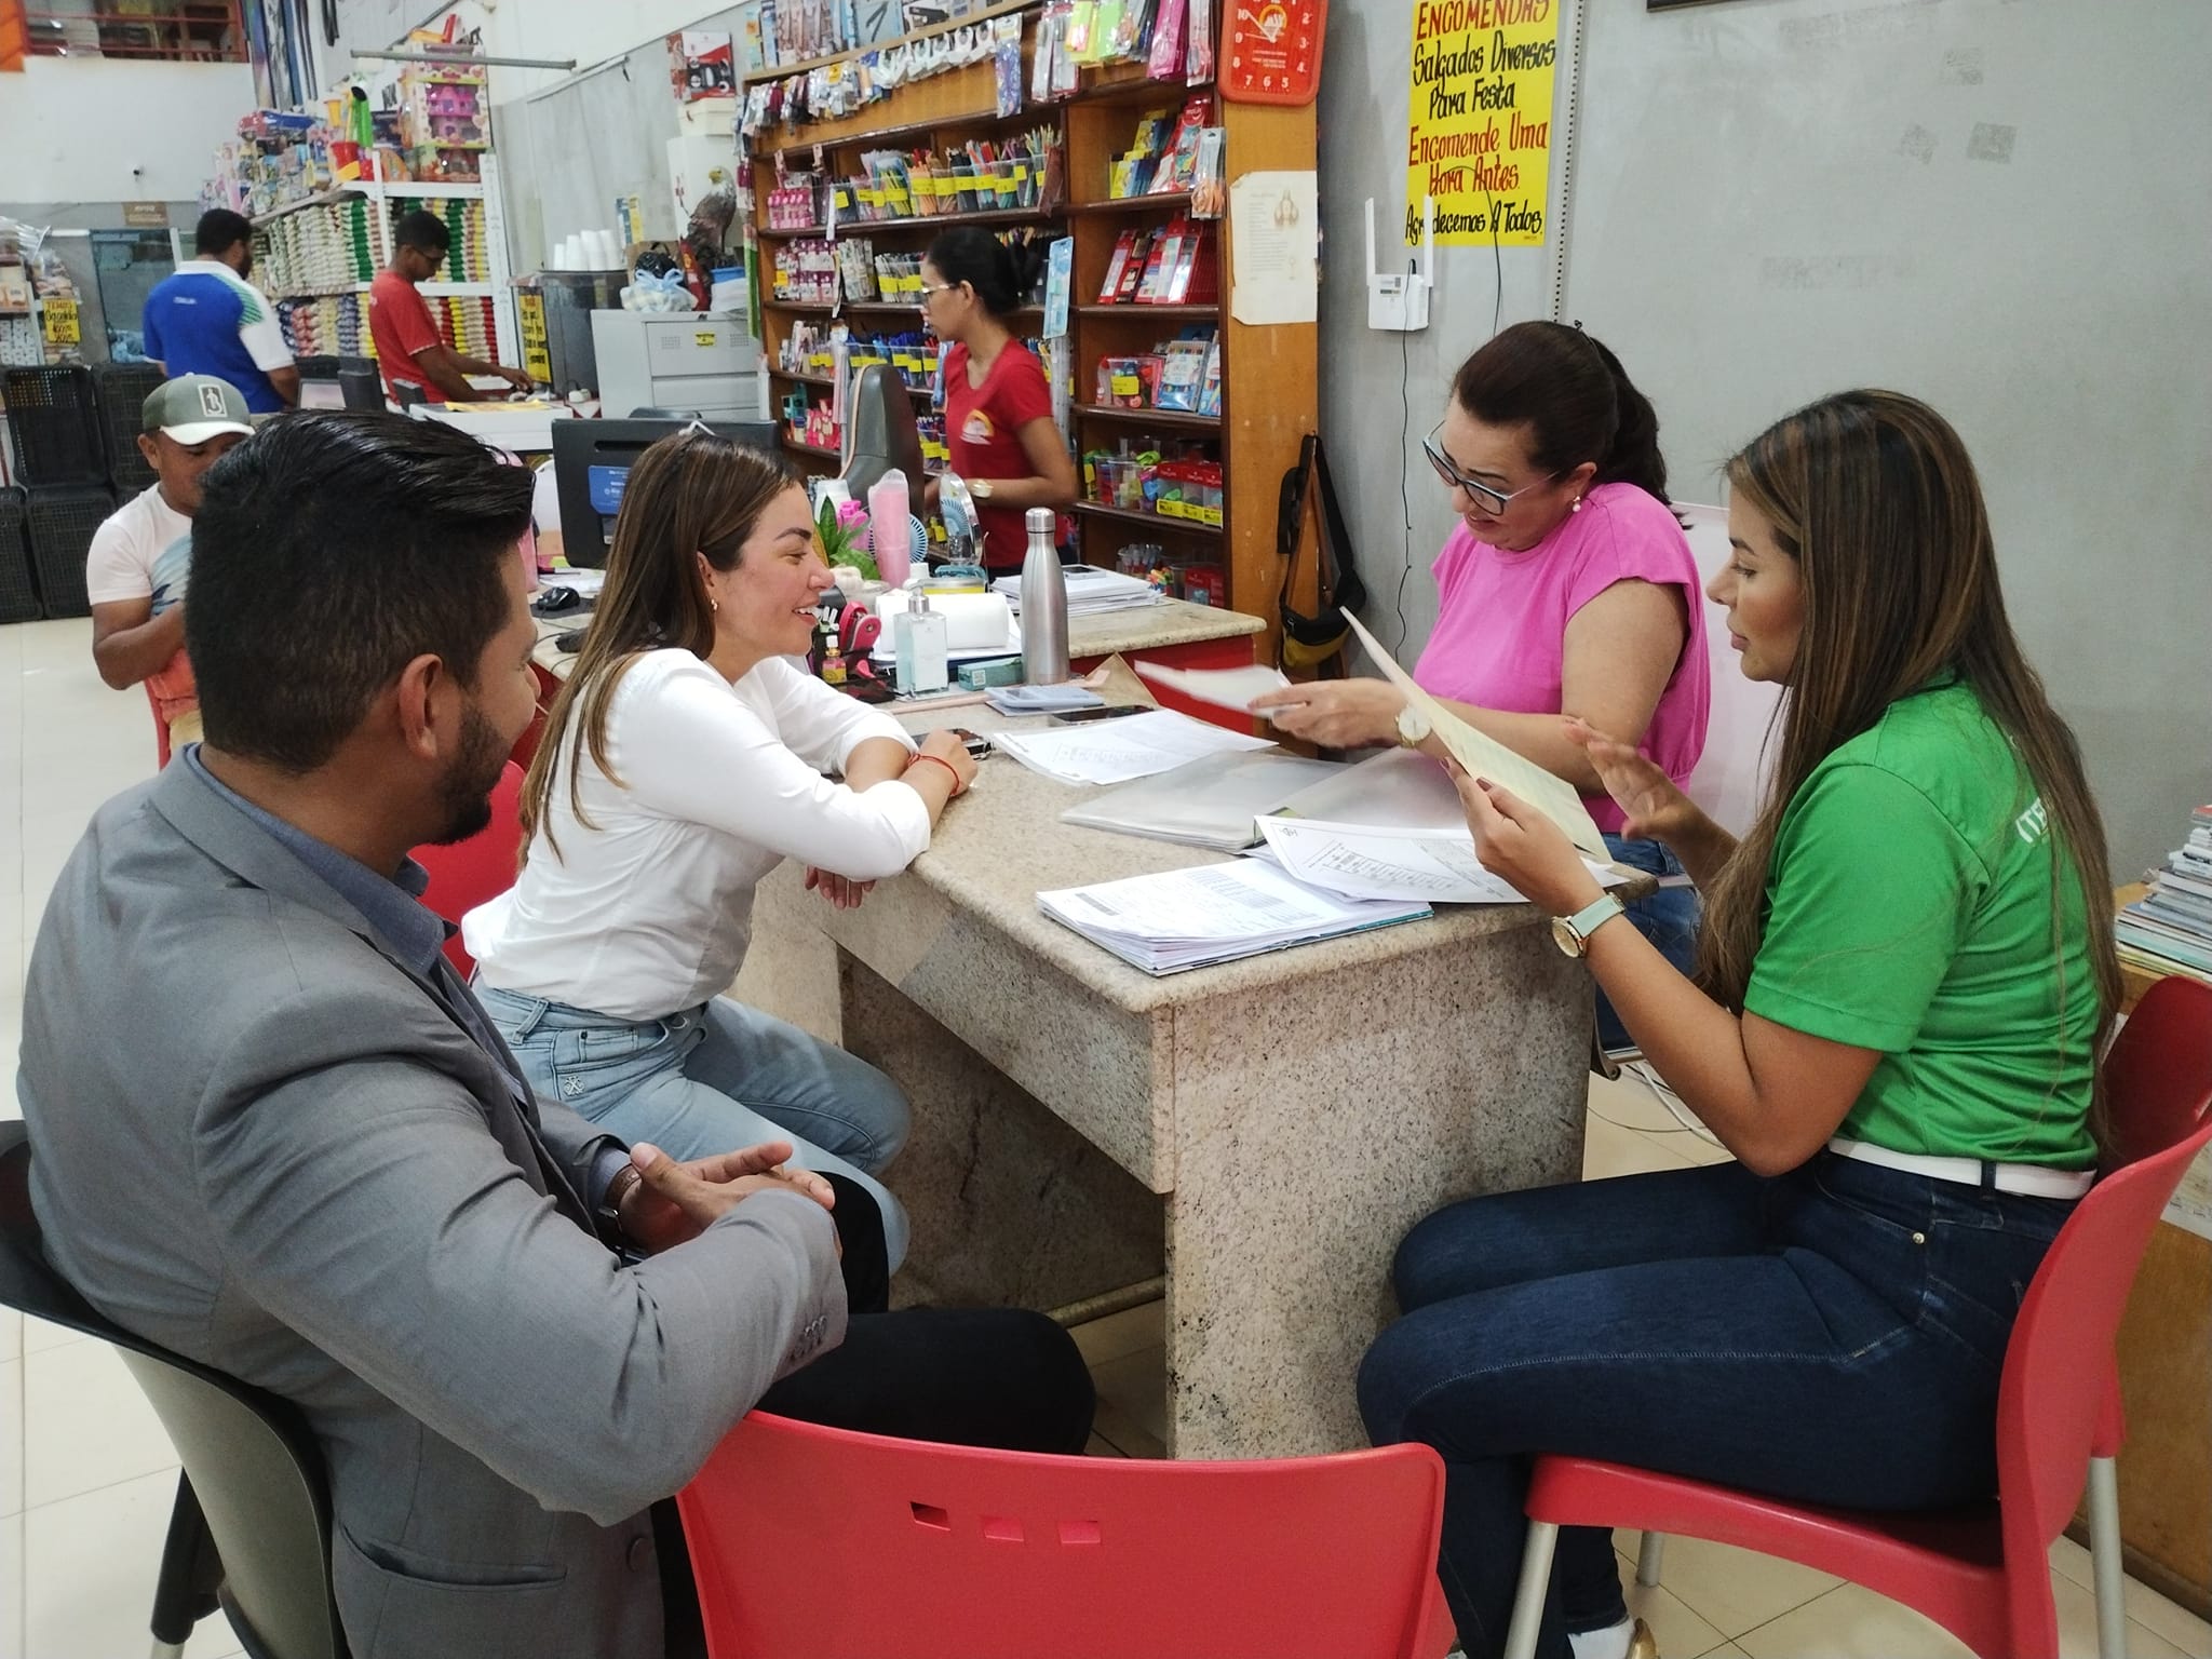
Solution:
<svg viewBox="0 0 2212 1659"><path fill-rule="evenodd" d="M1482 863L1559 918L1628 1033L1734 1164L1451 1206L1398 1250L1405 1316L1360 1367L1376 1444L1447 1464L1440 1573L1504 1644L1528 1453L1796 1502L1995 1491L2020 1296L2097 1164L2119 1000L2081 757L2020 653L1958 434L1845 392L1728 465L1708 586L1743 672L1790 688L1739 845L1577 728L1630 836L1705 891L1686 978L1555 825L1460 779ZM1650 1652L1610 1535L1562 1528L1540 1652Z"/></svg>

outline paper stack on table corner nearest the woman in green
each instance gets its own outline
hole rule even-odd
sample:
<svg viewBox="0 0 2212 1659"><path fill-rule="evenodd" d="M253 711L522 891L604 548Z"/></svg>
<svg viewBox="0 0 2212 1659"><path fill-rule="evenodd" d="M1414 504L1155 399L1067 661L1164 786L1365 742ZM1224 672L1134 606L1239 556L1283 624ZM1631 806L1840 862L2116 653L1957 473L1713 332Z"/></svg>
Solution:
<svg viewBox="0 0 2212 1659"><path fill-rule="evenodd" d="M1252 858L1064 887L1037 894L1037 909L1146 973L1234 962L1431 914L1418 902L1323 894Z"/></svg>

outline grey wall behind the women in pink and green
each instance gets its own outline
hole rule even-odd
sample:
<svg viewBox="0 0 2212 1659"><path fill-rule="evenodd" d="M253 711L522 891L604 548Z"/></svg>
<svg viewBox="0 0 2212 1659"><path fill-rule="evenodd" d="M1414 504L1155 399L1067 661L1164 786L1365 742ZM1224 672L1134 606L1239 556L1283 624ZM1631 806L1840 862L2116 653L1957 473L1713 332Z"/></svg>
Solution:
<svg viewBox="0 0 2212 1659"><path fill-rule="evenodd" d="M1451 518L1418 438L1493 319L1555 303L1553 250L1451 248L1425 334L1367 330L1360 201L1383 223L1405 206L1411 13L1334 7L1321 95L1323 434L1369 626L1405 661ZM1557 314L1650 394L1679 498L1721 500L1732 449L1849 385L1958 425L2013 626L2081 737L2121 878L2212 799L2212 201L2179 188L2212 177L2203 27L2201 0L2095 20L2002 0L1584 0L1571 137ZM1566 84L1562 66L1562 106Z"/></svg>

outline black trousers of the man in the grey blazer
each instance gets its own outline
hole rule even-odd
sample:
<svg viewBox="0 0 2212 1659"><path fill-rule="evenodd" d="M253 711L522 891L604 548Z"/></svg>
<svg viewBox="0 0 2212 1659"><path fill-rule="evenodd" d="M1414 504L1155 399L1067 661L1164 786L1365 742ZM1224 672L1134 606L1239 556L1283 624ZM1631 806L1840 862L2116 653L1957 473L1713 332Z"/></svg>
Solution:
<svg viewBox="0 0 2212 1659"><path fill-rule="evenodd" d="M761 1396L761 1411L856 1433L1004 1451L1082 1451L1091 1440L1091 1371L1075 1340L1024 1307L889 1305L883 1214L841 1175L845 1340ZM699 1593L675 1500L653 1506L668 1659L706 1652Z"/></svg>

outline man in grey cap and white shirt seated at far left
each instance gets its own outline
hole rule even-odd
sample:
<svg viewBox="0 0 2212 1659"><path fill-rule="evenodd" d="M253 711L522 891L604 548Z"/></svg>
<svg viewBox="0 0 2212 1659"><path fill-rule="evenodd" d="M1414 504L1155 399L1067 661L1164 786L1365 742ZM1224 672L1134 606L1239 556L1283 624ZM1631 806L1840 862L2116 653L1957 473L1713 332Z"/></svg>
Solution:
<svg viewBox="0 0 2212 1659"><path fill-rule="evenodd" d="M139 414L139 453L155 482L93 531L84 557L93 666L115 690L153 690L170 745L199 741L199 695L184 655L199 476L250 431L246 398L228 380L181 374L155 387Z"/></svg>

